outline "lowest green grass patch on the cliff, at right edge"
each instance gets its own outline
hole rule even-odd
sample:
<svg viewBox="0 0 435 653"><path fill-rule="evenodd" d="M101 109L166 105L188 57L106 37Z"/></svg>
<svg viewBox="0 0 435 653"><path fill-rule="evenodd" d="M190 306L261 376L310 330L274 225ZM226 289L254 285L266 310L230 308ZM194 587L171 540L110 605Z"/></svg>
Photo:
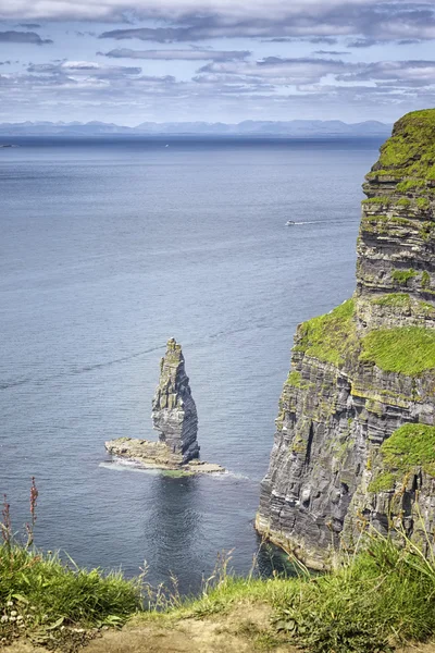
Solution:
<svg viewBox="0 0 435 653"><path fill-rule="evenodd" d="M371 482L370 492L393 490L397 481L419 468L435 477L435 427L403 424L382 444L380 453L382 471Z"/></svg>

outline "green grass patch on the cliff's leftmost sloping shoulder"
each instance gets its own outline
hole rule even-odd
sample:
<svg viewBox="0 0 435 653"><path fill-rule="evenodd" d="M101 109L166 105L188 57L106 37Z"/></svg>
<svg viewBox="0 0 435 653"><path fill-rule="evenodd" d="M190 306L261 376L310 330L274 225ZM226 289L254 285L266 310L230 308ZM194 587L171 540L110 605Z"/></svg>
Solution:
<svg viewBox="0 0 435 653"><path fill-rule="evenodd" d="M356 340L353 311L353 300L348 299L330 313L303 322L294 350L336 366L343 365L345 353Z"/></svg>

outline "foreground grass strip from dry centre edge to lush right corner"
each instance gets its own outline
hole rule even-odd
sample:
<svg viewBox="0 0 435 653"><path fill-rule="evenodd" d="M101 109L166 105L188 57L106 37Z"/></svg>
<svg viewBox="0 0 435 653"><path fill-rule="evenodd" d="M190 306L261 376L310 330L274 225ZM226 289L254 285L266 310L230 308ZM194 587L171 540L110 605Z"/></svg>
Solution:
<svg viewBox="0 0 435 653"><path fill-rule="evenodd" d="M289 579L221 575L200 599L181 602L159 621L217 618L240 605L254 608L260 603L269 604L274 615L268 650L288 642L306 653L386 653L406 640L432 637L434 560L405 538L400 549L378 535L368 538L363 546L322 576L311 576L302 565Z"/></svg>

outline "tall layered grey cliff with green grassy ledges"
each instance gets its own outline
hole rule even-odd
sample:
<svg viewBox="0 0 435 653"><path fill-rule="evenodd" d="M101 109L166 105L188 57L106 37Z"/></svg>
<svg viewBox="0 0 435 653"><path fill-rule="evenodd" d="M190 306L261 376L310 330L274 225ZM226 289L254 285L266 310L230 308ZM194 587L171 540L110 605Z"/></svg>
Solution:
<svg viewBox="0 0 435 653"><path fill-rule="evenodd" d="M327 566L361 528L435 527L435 110L365 177L357 288L299 324L257 529Z"/></svg>

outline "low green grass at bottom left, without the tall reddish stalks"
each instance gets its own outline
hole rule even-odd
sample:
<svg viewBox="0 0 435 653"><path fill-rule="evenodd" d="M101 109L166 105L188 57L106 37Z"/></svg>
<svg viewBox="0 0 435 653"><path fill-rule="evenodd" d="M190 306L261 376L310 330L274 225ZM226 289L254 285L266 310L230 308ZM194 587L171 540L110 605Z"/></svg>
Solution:
<svg viewBox="0 0 435 653"><path fill-rule="evenodd" d="M0 546L0 606L8 603L11 609L3 611L0 637L20 621L26 630L120 625L141 600L138 582L125 580L121 572L80 569L58 555L13 543ZM22 619L7 618L12 612Z"/></svg>

